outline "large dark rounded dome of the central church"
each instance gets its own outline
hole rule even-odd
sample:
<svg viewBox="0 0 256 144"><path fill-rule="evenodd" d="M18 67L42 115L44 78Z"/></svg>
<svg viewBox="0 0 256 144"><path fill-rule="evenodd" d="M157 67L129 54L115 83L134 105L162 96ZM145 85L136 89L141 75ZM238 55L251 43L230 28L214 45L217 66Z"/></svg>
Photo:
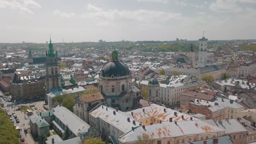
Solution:
<svg viewBox="0 0 256 144"><path fill-rule="evenodd" d="M129 68L119 61L112 61L104 65L100 73L102 77L120 77L128 75L130 75Z"/></svg>

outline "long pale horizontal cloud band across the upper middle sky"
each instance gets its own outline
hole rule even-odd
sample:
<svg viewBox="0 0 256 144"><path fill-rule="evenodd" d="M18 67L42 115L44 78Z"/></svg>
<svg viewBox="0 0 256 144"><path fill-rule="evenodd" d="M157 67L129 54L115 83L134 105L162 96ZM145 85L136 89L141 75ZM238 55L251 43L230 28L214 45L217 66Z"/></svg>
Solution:
<svg viewBox="0 0 256 144"><path fill-rule="evenodd" d="M95 19L103 22L107 21L136 21L136 22L156 22L156 21L168 21L171 19L183 19L181 13L171 13L165 11L156 10L118 10L118 9L101 9L94 5L88 4L88 13L75 14L65 13L59 9L54 11L54 15L60 17L81 17L84 19Z"/></svg>

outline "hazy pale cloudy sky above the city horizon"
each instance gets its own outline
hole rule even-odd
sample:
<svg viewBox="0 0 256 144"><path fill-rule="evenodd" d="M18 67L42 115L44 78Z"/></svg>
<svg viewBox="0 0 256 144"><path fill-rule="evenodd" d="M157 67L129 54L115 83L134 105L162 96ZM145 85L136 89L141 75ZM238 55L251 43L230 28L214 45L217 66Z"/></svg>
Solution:
<svg viewBox="0 0 256 144"><path fill-rule="evenodd" d="M0 43L256 39L256 0L0 0Z"/></svg>

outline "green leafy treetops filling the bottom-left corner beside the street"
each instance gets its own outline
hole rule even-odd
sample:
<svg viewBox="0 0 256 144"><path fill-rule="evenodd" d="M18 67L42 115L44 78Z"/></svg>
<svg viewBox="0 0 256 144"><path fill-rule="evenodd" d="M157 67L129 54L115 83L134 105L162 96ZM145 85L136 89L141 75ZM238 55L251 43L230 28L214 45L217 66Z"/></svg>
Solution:
<svg viewBox="0 0 256 144"><path fill-rule="evenodd" d="M9 117L2 109L0 109L0 143L21 144L19 131L15 130L14 124L9 121Z"/></svg>

